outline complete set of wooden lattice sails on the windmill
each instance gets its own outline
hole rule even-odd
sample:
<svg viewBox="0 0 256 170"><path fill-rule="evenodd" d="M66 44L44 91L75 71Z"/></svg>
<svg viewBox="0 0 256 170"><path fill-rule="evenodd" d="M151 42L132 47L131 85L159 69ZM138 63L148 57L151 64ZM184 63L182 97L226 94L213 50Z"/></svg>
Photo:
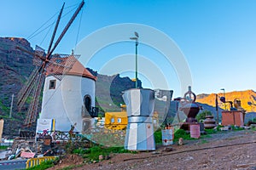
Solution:
<svg viewBox="0 0 256 170"><path fill-rule="evenodd" d="M54 46L53 42L55 40L55 33L57 31L57 28L59 26L59 22L61 20L61 14L63 11L65 3L63 3L63 6L61 8L61 12L58 15L58 19L55 24L55 29L53 31L53 35L51 37L51 40L49 42L49 48L47 53L44 53L43 48L36 47L35 54L33 54L30 51L27 51L24 48L16 47L20 49L20 51L23 51L27 54L32 54L34 56L33 63L36 66L36 68L32 71L31 76L28 78L28 81L26 82L26 85L21 88L20 93L18 94L18 109L21 110L22 106L26 103L26 100L29 96L32 96L29 109L26 113L26 119L24 122L25 127L30 127L32 125L32 122L35 122L38 116L38 103L40 94L42 91L42 87L44 84L44 79L47 74L47 69L51 68L54 69L55 72L58 72L58 74L55 74L55 78L61 81L61 79L65 76L65 74L73 67L74 63L79 58L79 55L68 55L68 54L53 54L55 48L58 46L58 44L61 42L62 37L66 34L69 26L72 25L73 20L75 20L76 16L79 14L79 11L84 6L84 1L79 4L79 7L74 12L72 18L68 21L67 26L63 29L61 32L60 37L56 40ZM53 47L52 47L53 46Z"/></svg>

